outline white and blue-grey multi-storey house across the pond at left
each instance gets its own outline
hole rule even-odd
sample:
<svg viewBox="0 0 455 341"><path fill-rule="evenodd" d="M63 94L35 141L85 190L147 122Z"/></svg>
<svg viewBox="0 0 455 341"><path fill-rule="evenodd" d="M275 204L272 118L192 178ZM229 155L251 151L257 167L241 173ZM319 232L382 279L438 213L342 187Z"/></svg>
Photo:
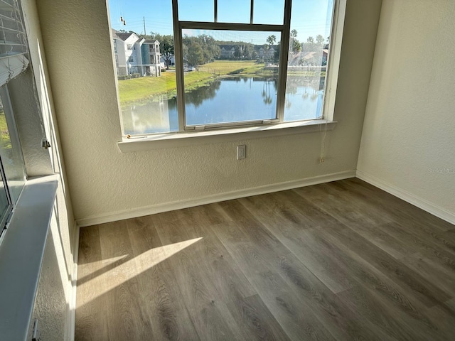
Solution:
<svg viewBox="0 0 455 341"><path fill-rule="evenodd" d="M161 76L159 41L139 38L135 33L112 30L117 75L139 73Z"/></svg>

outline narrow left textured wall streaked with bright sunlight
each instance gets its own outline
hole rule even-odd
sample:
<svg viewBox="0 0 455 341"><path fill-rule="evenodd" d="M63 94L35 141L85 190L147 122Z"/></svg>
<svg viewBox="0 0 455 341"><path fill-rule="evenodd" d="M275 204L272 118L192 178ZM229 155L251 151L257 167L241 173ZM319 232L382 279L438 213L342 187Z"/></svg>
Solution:
<svg viewBox="0 0 455 341"><path fill-rule="evenodd" d="M57 174L59 185L55 197L50 231L45 247L41 277L38 284L33 319L38 318L43 340L70 340L71 330L68 313L73 298L72 281L74 269L74 217L68 186L65 182L65 165L60 156L58 126L54 116L53 97L48 87L48 70L43 53L43 38L35 0L21 0L26 21L28 45L33 70L26 76L30 84L35 82L38 98L34 94L18 91L22 102L28 102L28 111L19 112L18 127L24 129L21 135L22 147L28 158L28 175ZM32 72L33 71L33 72ZM33 75L33 77L32 77ZM37 102L40 109L36 109ZM41 115L41 119L39 119ZM31 117L33 116L33 117ZM34 120L34 121L33 121ZM41 124L43 130L41 129ZM41 138L47 137L51 148L41 148Z"/></svg>

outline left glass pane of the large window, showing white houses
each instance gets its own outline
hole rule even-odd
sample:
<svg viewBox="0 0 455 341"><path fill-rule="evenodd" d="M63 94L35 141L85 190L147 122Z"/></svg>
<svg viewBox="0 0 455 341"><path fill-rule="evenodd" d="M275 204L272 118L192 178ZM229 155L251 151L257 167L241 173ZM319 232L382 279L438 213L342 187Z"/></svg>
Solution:
<svg viewBox="0 0 455 341"><path fill-rule="evenodd" d="M127 6L123 12L111 6L109 12L123 134L177 131L171 1Z"/></svg>

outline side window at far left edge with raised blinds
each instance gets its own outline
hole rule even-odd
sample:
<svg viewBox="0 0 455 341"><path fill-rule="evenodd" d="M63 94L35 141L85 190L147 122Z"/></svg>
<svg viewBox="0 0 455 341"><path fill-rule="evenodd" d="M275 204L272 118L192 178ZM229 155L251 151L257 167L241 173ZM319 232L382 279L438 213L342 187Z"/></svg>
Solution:
<svg viewBox="0 0 455 341"><path fill-rule="evenodd" d="M28 67L28 48L17 1L2 1L0 18L0 238L3 238L9 213L26 181L7 83Z"/></svg>

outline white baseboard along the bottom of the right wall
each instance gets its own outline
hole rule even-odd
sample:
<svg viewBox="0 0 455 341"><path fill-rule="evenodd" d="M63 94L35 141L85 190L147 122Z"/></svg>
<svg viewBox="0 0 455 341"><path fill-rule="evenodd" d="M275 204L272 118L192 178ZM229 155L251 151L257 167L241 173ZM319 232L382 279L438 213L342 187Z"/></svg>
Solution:
<svg viewBox="0 0 455 341"><path fill-rule="evenodd" d="M390 183L386 183L385 181L376 178L374 175L370 175L363 171L356 172L356 177L360 180L363 180L371 185L380 188L381 190L385 190L385 192L395 195L395 197L399 197L410 204L421 208L424 211L431 213L432 215L445 220L446 222L450 222L451 224L455 224L455 212L449 212L445 208L439 207L434 205L432 202L429 202L422 197L417 197L416 195L407 192L406 190L402 190L401 188L397 188L394 185L390 185Z"/></svg>

